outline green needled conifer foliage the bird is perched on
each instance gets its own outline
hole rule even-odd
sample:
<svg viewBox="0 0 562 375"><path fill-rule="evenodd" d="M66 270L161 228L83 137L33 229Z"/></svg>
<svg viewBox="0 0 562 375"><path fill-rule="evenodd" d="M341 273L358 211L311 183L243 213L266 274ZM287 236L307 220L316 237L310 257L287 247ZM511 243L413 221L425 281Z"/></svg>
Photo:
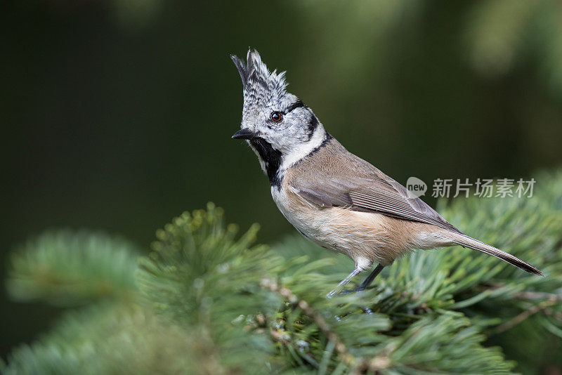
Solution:
<svg viewBox="0 0 562 375"><path fill-rule="evenodd" d="M460 247L417 251L374 287L325 298L351 261L292 236L254 245L223 212L183 213L148 256L124 239L48 232L13 252L20 301L73 307L4 374L509 374L562 367L562 173L532 198L440 202L530 275ZM360 282L358 278L357 282ZM558 361L558 362L556 362Z"/></svg>

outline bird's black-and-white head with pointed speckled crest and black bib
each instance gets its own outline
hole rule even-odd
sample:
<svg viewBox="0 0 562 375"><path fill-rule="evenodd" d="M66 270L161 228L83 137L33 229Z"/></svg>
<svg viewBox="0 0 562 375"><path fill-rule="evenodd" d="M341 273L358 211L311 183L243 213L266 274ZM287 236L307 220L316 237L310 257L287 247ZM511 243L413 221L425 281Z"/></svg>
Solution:
<svg viewBox="0 0 562 375"><path fill-rule="evenodd" d="M270 72L255 50L248 51L245 63L235 55L230 58L240 72L244 95L241 129L233 138L247 140L273 184L276 173L309 154L327 134L314 112L287 92L285 72Z"/></svg>

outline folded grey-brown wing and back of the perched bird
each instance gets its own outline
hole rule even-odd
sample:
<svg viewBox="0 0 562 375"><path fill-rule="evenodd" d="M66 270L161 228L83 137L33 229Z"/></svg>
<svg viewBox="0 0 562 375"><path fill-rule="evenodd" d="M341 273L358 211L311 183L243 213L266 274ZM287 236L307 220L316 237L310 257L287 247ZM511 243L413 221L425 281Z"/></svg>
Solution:
<svg viewBox="0 0 562 375"><path fill-rule="evenodd" d="M328 148L323 152L325 155L315 155L320 162L308 161L314 165L298 166L304 173L295 173L289 185L301 197L321 207L344 206L357 211L376 211L460 233L403 185L347 152L339 143L334 147L341 147L341 150L331 152ZM334 161L334 157L339 160Z"/></svg>

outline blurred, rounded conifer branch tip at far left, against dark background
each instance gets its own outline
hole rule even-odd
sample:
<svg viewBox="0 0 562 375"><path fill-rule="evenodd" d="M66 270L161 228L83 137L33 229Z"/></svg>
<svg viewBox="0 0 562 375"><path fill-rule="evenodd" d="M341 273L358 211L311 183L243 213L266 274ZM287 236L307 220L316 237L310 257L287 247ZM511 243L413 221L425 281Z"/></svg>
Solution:
<svg viewBox="0 0 562 375"><path fill-rule="evenodd" d="M19 301L80 305L136 293L138 250L103 233L60 230L27 241L11 257L7 288Z"/></svg>

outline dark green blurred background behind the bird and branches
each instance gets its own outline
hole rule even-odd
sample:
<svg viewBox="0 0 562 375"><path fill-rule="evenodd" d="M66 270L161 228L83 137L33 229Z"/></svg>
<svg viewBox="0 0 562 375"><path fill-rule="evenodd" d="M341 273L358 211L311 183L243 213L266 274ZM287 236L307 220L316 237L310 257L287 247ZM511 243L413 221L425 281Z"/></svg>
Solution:
<svg viewBox="0 0 562 375"><path fill-rule="evenodd" d="M560 1L2 1L0 42L2 279L13 246L46 228L148 249L208 201L261 223L262 242L291 232L230 139L242 87L228 55L249 46L402 183L562 164ZM4 289L0 304L2 357L59 313Z"/></svg>

